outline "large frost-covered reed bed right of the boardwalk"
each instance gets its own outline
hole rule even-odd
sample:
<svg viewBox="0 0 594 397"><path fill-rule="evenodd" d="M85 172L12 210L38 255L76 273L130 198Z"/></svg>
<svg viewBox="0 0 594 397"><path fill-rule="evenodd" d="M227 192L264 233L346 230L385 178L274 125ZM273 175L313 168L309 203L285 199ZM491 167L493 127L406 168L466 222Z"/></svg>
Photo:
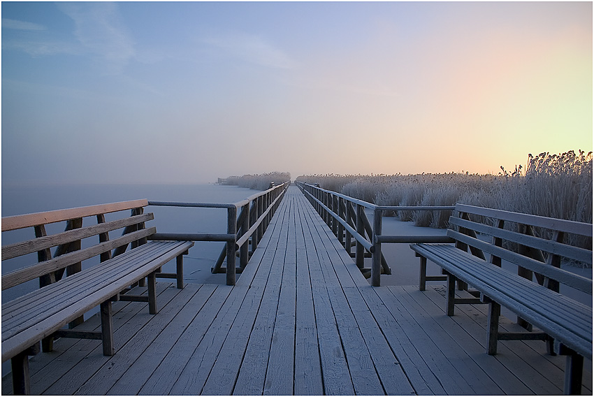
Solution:
<svg viewBox="0 0 594 397"><path fill-rule="evenodd" d="M303 175L300 182L377 205L454 205L488 208L592 223L592 152L528 155L524 170L498 175L442 173L417 175ZM398 211L416 226L447 227L442 211ZM591 245L591 241L589 243Z"/></svg>

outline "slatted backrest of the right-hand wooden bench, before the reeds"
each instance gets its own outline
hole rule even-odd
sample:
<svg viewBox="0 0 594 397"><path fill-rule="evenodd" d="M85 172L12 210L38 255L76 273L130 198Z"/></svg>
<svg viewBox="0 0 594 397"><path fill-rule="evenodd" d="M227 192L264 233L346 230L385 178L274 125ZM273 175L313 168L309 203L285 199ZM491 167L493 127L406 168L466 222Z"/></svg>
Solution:
<svg viewBox="0 0 594 397"><path fill-rule="evenodd" d="M456 246L496 266L558 291L558 283L592 294L592 280L560 268L561 261L592 265L592 224L456 204L447 235ZM581 247L576 242L581 243Z"/></svg>

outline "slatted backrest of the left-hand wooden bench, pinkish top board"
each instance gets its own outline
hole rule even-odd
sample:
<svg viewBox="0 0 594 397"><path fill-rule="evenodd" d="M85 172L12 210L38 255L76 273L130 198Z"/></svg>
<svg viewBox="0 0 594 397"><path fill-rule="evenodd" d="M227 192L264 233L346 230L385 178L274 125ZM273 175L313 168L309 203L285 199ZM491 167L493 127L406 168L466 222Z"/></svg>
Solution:
<svg viewBox="0 0 594 397"><path fill-rule="evenodd" d="M3 264L34 252L37 252L38 262L2 275L2 290L37 277L43 287L59 280L64 269L67 275L77 273L86 259L99 256L103 262L125 252L128 245L136 247L145 243L147 236L157 231L154 227L145 227L145 222L153 219L152 213L143 213L147 205L147 200L134 200L3 217L2 232L32 227L35 236L31 240L3 245ZM120 216L119 211L126 211L126 215ZM131 216L127 216L129 212ZM115 213L118 219L106 222L108 213ZM88 226L83 226L83 219ZM48 236L45 225L56 222L66 222L64 232ZM109 232L117 229L123 229L122 236L110 239ZM82 249L81 240L94 236L99 236L96 244ZM53 254L52 247L55 247Z"/></svg>

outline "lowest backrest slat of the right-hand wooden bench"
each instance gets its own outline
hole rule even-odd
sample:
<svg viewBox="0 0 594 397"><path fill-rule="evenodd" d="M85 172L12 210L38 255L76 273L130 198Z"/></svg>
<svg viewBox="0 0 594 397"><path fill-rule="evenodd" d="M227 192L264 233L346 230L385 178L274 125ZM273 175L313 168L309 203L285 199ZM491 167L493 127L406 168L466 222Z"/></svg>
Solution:
<svg viewBox="0 0 594 397"><path fill-rule="evenodd" d="M451 229L448 229L447 235L458 241L471 245L472 247L477 247L483 252L493 254L496 257L500 257L501 259L509 261L512 264L533 270L546 277L551 277L558 282L569 285L570 287L574 287L575 289L579 289L580 291L584 291L588 294L592 293L592 280L589 278L576 275L564 269L549 266L541 261L537 261L536 259L524 257L520 254L517 254L516 252L505 250L505 248L497 247L493 244L485 243L484 241L481 241L477 238L466 236L463 233L458 233L457 231Z"/></svg>

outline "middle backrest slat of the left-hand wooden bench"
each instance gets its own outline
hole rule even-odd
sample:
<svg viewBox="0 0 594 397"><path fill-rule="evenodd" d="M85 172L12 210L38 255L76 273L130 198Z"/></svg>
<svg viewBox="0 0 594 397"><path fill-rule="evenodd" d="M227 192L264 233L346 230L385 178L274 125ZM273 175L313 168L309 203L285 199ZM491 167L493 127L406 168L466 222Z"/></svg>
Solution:
<svg viewBox="0 0 594 397"><path fill-rule="evenodd" d="M92 226L85 226L80 229L73 229L64 231L62 233L56 233L52 236L38 237L33 240L22 241L20 243L5 245L2 247L2 260L12 259L20 257L21 255L31 254L45 250L46 248L55 247L57 245L70 243L74 240L82 240L92 236L97 236L100 233L106 233L107 231L114 231L122 229L126 226L133 224L139 224L141 222L148 222L154 219L152 212L143 215L134 215L126 217L124 219L117 219L111 222L105 222L101 224L94 224Z"/></svg>

